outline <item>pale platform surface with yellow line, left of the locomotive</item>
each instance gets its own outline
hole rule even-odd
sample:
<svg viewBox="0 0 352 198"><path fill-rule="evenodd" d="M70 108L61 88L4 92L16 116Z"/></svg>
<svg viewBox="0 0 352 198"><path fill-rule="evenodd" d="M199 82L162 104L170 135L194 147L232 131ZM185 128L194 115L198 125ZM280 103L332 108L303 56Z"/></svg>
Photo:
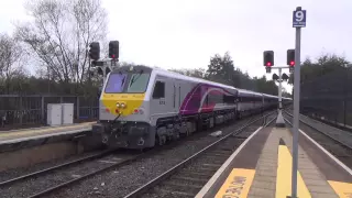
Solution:
<svg viewBox="0 0 352 198"><path fill-rule="evenodd" d="M94 123L96 122L85 122L85 123L62 125L62 127L44 127L44 128L3 131L3 132L0 132L0 144L21 142L24 140L32 140L32 139L38 139L38 138L47 138L53 135L72 134L72 133L90 131L91 124Z"/></svg>

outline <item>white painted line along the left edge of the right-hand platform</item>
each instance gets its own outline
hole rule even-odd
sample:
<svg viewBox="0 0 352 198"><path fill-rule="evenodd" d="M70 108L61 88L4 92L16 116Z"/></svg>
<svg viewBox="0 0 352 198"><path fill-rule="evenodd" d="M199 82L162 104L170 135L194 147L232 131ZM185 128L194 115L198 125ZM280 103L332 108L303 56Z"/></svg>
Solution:
<svg viewBox="0 0 352 198"><path fill-rule="evenodd" d="M217 170L216 174L208 180L208 183L200 189L200 191L196 195L196 198L204 197L209 189L213 186L213 184L218 180L220 175L224 172L224 169L230 165L230 163L233 161L233 158L242 151L242 148L250 142L250 140L263 129L263 127L260 127L254 133L251 134L235 151L232 153L232 155L222 164L222 166Z"/></svg>

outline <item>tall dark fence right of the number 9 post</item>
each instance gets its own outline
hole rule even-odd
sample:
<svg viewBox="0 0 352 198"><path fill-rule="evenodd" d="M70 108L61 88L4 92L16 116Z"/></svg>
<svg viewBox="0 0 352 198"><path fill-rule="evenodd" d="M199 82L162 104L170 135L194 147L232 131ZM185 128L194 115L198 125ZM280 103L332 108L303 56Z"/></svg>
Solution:
<svg viewBox="0 0 352 198"><path fill-rule="evenodd" d="M352 127L352 70L337 70L300 86L300 112L344 128Z"/></svg>

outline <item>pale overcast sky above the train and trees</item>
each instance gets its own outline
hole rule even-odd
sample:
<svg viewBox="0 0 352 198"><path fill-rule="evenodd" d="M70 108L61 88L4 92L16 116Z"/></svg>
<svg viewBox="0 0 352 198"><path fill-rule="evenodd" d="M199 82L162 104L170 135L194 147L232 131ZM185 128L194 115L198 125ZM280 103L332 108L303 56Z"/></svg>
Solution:
<svg viewBox="0 0 352 198"><path fill-rule="evenodd" d="M109 40L120 41L120 59L163 68L206 68L227 51L250 76L265 74L263 51L286 63L295 47L293 10L307 10L301 58L337 53L352 61L351 0L102 0ZM0 32L25 20L23 0L0 1Z"/></svg>

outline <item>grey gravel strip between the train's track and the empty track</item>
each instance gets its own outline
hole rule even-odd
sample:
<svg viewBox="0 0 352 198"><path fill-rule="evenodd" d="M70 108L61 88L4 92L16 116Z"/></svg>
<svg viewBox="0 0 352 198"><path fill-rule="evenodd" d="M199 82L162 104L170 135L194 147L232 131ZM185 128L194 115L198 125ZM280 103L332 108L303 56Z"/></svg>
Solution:
<svg viewBox="0 0 352 198"><path fill-rule="evenodd" d="M228 134L239 129L245 122L246 121L240 121L238 124L226 127L221 131L223 134ZM262 121L260 121L258 124L262 124ZM199 140L194 139L191 141L186 141L172 150L165 150L131 165L99 174L80 184L46 197L123 197L218 139L219 138L206 135Z"/></svg>

